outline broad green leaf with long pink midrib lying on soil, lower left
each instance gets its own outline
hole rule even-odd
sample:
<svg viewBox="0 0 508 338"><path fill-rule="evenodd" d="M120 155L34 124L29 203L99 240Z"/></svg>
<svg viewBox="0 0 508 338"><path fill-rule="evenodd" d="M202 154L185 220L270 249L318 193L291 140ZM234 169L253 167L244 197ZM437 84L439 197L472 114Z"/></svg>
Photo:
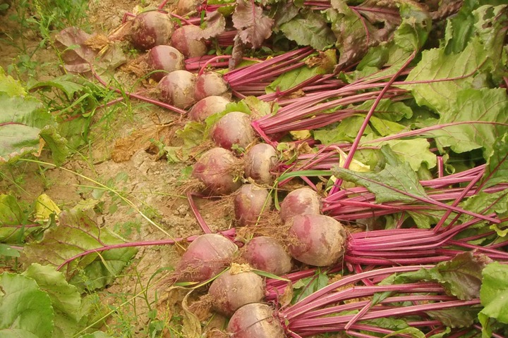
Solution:
<svg viewBox="0 0 508 338"><path fill-rule="evenodd" d="M93 249L105 245L125 242L118 235L99 227L95 223L94 215L90 208L62 211L59 215L58 226L44 232L42 241L32 242L25 246L23 261L59 266L68 258L91 251L86 256L64 265L61 271L67 280L78 274L78 271L84 271L84 275L76 277L75 281L81 282L85 277L88 280L92 278L90 285L94 288L108 284L112 276L115 273L118 274L126 262L135 255L137 249L124 248L114 249L111 252L93 252ZM90 265L89 268L87 268L88 265Z"/></svg>

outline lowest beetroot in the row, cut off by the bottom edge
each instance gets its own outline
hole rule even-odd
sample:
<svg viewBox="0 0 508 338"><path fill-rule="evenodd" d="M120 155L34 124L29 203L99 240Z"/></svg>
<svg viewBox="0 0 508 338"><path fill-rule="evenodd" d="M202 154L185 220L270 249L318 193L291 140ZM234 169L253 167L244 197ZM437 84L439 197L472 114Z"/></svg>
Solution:
<svg viewBox="0 0 508 338"><path fill-rule="evenodd" d="M227 331L234 338L284 338L284 329L270 306L250 303L238 308Z"/></svg>

